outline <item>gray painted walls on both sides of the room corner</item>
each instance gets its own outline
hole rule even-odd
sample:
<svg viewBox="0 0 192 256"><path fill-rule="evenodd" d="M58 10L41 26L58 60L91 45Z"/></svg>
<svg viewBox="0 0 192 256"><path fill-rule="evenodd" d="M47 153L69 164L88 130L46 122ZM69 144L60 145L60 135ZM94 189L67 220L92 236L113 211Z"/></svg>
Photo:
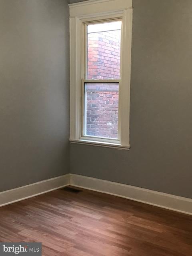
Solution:
<svg viewBox="0 0 192 256"><path fill-rule="evenodd" d="M191 198L192 2L133 5L132 148L71 144L71 172ZM70 170L68 52L66 0L0 0L0 191Z"/></svg>

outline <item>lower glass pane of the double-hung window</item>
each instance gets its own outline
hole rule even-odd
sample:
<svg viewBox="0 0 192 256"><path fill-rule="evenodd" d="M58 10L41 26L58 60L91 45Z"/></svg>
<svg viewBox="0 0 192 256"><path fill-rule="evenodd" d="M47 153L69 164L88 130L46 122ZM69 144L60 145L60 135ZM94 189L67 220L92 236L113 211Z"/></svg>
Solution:
<svg viewBox="0 0 192 256"><path fill-rule="evenodd" d="M84 135L118 138L119 84L85 84Z"/></svg>

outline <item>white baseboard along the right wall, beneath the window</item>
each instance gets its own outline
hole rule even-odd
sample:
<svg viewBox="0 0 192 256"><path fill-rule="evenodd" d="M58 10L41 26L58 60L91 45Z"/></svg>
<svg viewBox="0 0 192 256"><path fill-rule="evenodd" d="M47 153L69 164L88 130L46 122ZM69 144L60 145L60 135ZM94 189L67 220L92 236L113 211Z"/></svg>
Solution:
<svg viewBox="0 0 192 256"><path fill-rule="evenodd" d="M108 180L70 174L70 185L192 215L192 199Z"/></svg>

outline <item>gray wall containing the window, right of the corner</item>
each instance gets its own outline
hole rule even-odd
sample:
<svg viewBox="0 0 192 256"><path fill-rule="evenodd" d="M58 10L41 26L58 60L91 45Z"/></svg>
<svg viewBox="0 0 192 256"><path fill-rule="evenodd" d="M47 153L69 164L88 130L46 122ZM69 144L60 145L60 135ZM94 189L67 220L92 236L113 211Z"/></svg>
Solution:
<svg viewBox="0 0 192 256"><path fill-rule="evenodd" d="M192 198L192 1L133 5L132 148L71 144L71 172Z"/></svg>

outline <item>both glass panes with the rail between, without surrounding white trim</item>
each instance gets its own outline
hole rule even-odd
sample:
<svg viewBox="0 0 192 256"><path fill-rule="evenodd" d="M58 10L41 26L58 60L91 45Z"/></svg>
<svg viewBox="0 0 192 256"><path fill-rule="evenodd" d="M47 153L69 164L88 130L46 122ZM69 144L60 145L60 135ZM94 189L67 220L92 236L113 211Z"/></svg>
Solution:
<svg viewBox="0 0 192 256"><path fill-rule="evenodd" d="M85 23L84 26L82 134L117 140L122 21Z"/></svg>

